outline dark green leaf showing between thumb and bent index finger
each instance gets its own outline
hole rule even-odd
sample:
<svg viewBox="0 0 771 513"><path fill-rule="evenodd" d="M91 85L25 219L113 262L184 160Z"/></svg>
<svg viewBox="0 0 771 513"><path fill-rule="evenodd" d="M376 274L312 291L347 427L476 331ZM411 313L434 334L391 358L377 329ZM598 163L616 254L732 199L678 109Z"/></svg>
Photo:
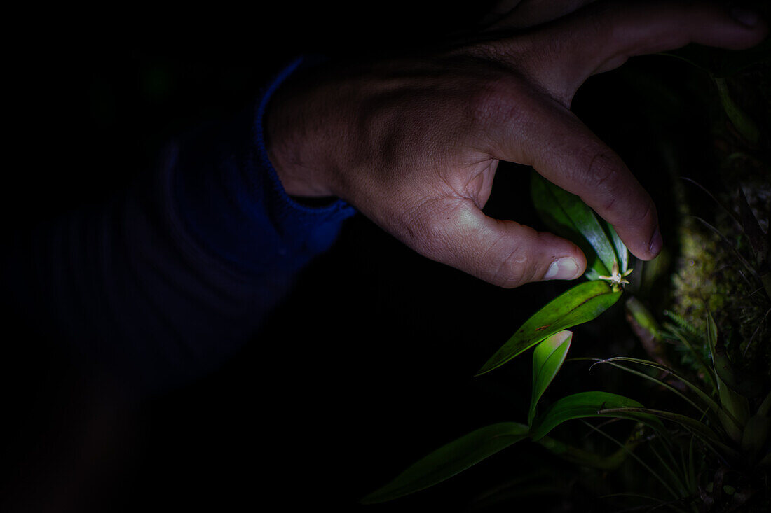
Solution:
<svg viewBox="0 0 771 513"><path fill-rule="evenodd" d="M544 224L551 232L571 240L581 248L587 261L587 270L584 276L588 280L598 280L600 276L610 276L612 263L611 267L607 267L603 260L601 260L601 257L598 256L597 251L594 250L594 247L591 246L587 237L578 230L574 221L571 220L571 217L567 215L567 212L561 205L560 199L554 194L556 189L562 190L535 171L532 173L530 178L530 196L541 220L544 221ZM574 198L581 202L578 196L574 196ZM583 202L581 203L583 204Z"/></svg>

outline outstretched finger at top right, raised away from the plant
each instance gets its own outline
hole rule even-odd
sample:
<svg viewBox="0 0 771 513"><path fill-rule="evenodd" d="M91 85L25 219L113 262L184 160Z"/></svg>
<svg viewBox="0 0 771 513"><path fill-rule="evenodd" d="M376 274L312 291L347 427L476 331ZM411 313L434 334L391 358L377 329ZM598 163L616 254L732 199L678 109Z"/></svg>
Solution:
<svg viewBox="0 0 771 513"><path fill-rule="evenodd" d="M682 48L689 43L746 49L763 41L768 26L754 12L717 2L594 2L533 31L501 42L514 59L537 52L527 72L569 105L589 76L622 65L634 55Z"/></svg>

